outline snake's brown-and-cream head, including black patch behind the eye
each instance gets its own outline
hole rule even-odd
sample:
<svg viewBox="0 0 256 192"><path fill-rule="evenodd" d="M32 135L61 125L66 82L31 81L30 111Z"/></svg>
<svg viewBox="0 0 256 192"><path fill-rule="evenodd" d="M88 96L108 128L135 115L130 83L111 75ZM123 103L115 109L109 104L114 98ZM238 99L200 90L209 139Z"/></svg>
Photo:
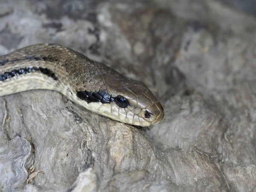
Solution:
<svg viewBox="0 0 256 192"><path fill-rule="evenodd" d="M163 119L164 110L148 87L104 66L98 74L77 84L78 99L85 108L131 125L151 126ZM83 105L81 102L80 105Z"/></svg>

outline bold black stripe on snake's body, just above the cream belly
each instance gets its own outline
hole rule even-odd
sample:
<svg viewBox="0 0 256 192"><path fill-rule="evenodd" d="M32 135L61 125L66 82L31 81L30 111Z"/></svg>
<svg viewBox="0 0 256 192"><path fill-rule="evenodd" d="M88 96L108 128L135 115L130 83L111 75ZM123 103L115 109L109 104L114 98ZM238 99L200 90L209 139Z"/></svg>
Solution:
<svg viewBox="0 0 256 192"><path fill-rule="evenodd" d="M20 69L17 69L17 70L12 70L12 71L4 72L4 73L0 74L0 81L5 81L6 79L12 78L14 76L19 76L19 75L22 75L22 74L24 75L24 74L35 72L35 71L40 71L44 75L47 75L47 76L51 77L54 80L58 79L55 76L55 74L52 73L52 71L47 69L47 68L43 68L43 67L26 67L26 68L20 68Z"/></svg>

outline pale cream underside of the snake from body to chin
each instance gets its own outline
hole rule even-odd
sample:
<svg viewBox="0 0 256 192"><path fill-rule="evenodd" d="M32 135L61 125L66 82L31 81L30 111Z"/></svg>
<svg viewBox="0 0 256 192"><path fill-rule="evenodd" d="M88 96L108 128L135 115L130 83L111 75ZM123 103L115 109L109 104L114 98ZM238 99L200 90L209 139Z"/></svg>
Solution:
<svg viewBox="0 0 256 192"><path fill-rule="evenodd" d="M76 98L76 96L74 96L74 94L71 94L70 91L67 91L68 87L65 87L65 86L57 87L56 84L57 84L57 81L53 80L48 76L45 76L44 74L27 73L26 75L20 75L18 77L15 76L11 79L7 79L4 82L0 81L0 96L10 95L13 93L18 93L26 90L34 90L34 89L55 90L67 96L68 99L83 106L84 108L90 111L93 111L95 113L98 113L100 115L107 116L116 121L133 124L133 125L139 125L139 126L151 125L150 122L147 122L141 117L134 115L134 113L132 113L131 111L127 112L123 108L114 106L116 104L102 104L101 102L87 103L87 102L84 102L83 100L79 100ZM111 108L112 108L112 111L111 111ZM116 113L114 111L116 111Z"/></svg>

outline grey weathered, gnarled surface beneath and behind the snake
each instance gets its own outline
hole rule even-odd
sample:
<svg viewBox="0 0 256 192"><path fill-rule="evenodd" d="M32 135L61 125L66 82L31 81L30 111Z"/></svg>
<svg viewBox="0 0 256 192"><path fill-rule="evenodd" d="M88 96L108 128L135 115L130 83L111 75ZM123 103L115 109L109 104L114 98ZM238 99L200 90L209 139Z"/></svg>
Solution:
<svg viewBox="0 0 256 192"><path fill-rule="evenodd" d="M256 191L256 19L229 1L1 0L0 55L76 49L143 81L165 118L138 128L54 91L0 97L0 191Z"/></svg>

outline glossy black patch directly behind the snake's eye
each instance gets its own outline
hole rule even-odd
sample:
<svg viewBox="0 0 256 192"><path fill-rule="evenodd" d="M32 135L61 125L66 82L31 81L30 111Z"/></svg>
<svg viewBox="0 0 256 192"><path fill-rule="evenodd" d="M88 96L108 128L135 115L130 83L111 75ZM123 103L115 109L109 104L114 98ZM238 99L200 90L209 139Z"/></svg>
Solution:
<svg viewBox="0 0 256 192"><path fill-rule="evenodd" d="M76 96L79 99L86 101L87 103L90 102L101 102L101 103L110 103L114 101L107 91L99 90L98 92L91 92L91 91L79 91L76 93Z"/></svg>

